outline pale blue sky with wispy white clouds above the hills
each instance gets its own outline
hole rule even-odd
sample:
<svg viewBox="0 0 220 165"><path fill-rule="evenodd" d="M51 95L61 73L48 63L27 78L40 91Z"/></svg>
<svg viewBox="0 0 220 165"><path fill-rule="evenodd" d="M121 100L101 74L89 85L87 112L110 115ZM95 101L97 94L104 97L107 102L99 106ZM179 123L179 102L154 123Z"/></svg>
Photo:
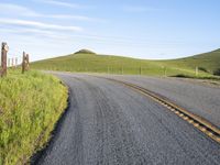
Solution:
<svg viewBox="0 0 220 165"><path fill-rule="evenodd" d="M168 59L220 48L219 0L0 0L0 42L31 61L81 48Z"/></svg>

